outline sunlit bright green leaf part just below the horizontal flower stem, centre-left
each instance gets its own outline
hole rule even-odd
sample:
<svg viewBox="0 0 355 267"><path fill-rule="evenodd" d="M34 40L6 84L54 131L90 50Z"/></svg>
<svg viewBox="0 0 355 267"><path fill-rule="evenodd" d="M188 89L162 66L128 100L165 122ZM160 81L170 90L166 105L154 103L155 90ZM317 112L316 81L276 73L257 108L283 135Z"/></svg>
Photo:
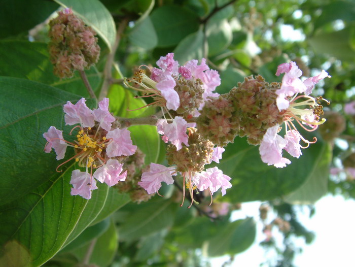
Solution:
<svg viewBox="0 0 355 267"><path fill-rule="evenodd" d="M130 126L133 143L146 154L145 162L157 162L160 152L160 137L155 125Z"/></svg>

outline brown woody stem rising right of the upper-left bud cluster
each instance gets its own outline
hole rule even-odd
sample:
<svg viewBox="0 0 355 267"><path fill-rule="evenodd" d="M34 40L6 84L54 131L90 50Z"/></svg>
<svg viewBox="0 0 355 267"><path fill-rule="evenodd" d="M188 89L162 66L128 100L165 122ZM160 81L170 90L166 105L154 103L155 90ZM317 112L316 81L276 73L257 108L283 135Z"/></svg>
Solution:
<svg viewBox="0 0 355 267"><path fill-rule="evenodd" d="M100 91L100 95L99 95L99 100L102 100L108 94L109 86L111 85L112 66L114 63L115 54L116 54L118 45L121 41L122 33L127 26L127 23L128 23L128 20L123 19L121 21L121 23L118 25L115 44L113 45L112 50L107 57L105 68L103 70L103 83L102 83L102 87L101 87L101 91Z"/></svg>

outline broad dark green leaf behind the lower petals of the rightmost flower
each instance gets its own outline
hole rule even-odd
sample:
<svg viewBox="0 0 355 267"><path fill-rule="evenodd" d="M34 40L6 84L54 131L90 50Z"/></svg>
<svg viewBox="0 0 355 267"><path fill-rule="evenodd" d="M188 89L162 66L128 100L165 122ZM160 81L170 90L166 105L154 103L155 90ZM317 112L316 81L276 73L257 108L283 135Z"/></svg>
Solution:
<svg viewBox="0 0 355 267"><path fill-rule="evenodd" d="M218 168L232 178L233 186L227 189L224 199L232 203L266 201L296 190L322 160L325 146L319 140L302 150L300 158L290 157L292 163L279 169L261 161L259 146L248 145L245 138L236 138L233 144L228 144L218 164ZM288 154L284 152L283 156L288 157Z"/></svg>

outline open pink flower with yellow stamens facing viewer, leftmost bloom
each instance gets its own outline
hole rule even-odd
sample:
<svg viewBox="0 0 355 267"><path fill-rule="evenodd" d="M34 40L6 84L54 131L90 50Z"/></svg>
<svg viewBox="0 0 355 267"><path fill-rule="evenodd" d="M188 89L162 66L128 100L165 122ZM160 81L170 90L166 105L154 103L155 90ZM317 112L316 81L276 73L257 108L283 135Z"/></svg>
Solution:
<svg viewBox="0 0 355 267"><path fill-rule="evenodd" d="M78 130L73 142L64 140L63 131L54 126L43 137L47 140L45 152L49 153L53 148L57 160L64 158L67 147L74 148L75 155L59 164L57 172L61 172L58 170L60 166L70 160L75 160L81 168L85 168L84 172L73 171L71 194L89 199L91 191L97 189L95 179L109 186L125 180L127 171L123 172L123 164L115 157L133 155L137 147L132 144L127 129L112 127L115 118L109 112L108 98L100 101L95 110L90 110L85 102L85 98L81 98L75 105L67 102L63 107L65 124L78 124L70 131L72 135Z"/></svg>

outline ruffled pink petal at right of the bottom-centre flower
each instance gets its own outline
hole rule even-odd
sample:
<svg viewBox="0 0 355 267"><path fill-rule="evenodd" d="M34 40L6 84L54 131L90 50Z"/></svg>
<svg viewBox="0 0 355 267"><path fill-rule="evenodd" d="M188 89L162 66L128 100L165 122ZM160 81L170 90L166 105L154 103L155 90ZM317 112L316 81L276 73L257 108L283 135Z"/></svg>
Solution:
<svg viewBox="0 0 355 267"><path fill-rule="evenodd" d="M209 168L205 172L201 172L194 179L198 190L203 191L209 188L211 194L222 188L222 195L226 194L226 189L231 188L232 184L229 182L231 178L224 175L217 167Z"/></svg>

